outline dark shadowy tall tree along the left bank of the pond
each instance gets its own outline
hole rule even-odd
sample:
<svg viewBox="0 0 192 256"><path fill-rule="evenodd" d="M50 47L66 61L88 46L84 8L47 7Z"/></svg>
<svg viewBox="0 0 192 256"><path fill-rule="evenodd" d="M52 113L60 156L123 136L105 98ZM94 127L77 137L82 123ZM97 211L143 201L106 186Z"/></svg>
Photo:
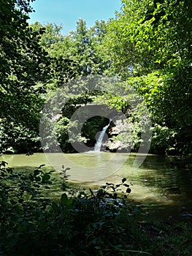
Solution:
<svg viewBox="0 0 192 256"><path fill-rule="evenodd" d="M31 137L29 129L37 136L39 110L42 108L42 99L37 94L43 90L37 83L46 81L47 70L46 53L39 45L39 33L31 31L27 23L28 13L32 11L30 1L1 0L0 6L2 151L7 148L8 141L12 144L13 138L19 137L18 134L20 138Z"/></svg>

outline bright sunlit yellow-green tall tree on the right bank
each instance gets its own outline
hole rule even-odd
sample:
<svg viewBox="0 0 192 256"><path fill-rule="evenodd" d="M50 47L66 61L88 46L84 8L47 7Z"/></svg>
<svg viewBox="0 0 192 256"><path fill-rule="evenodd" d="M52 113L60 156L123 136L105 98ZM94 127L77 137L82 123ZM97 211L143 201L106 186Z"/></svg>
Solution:
<svg viewBox="0 0 192 256"><path fill-rule="evenodd" d="M192 140L190 7L188 0L123 0L105 41L113 72L145 97L156 148L181 154Z"/></svg>

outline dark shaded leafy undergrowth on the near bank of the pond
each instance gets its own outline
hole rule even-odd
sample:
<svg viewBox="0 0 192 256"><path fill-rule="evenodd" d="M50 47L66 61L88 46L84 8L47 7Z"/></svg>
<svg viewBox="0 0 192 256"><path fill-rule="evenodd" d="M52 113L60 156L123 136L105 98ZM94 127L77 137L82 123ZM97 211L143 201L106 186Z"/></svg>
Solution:
<svg viewBox="0 0 192 256"><path fill-rule="evenodd" d="M0 164L0 255L191 255L186 224L145 222L127 200L130 184L77 191L65 168L63 194L51 194L53 171L42 165L29 175ZM51 197L50 197L51 198Z"/></svg>

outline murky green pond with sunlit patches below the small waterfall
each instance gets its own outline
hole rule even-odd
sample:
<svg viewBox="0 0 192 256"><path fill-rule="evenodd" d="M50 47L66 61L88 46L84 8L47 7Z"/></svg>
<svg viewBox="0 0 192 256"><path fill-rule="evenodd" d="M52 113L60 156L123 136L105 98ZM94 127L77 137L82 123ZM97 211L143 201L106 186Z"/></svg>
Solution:
<svg viewBox="0 0 192 256"><path fill-rule="evenodd" d="M4 154L0 160L25 172L46 165L48 169L70 167L66 174L75 186L96 189L106 182L127 178L134 200L146 211L165 217L192 219L192 171L172 167L169 159L152 154L88 152L84 154ZM59 174L58 174L59 175Z"/></svg>

